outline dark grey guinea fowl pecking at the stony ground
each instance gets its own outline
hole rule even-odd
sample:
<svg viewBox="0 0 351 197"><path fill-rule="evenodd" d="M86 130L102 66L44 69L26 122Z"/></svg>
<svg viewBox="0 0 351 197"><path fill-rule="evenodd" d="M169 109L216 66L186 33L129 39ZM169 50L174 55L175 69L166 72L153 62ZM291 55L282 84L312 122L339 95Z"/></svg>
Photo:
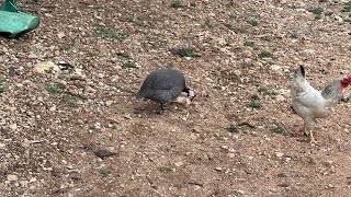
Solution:
<svg viewBox="0 0 351 197"><path fill-rule="evenodd" d="M161 109L169 101L182 92L188 94L189 102L195 97L193 90L186 88L184 76L178 70L160 69L146 77L136 99L148 99L160 104Z"/></svg>

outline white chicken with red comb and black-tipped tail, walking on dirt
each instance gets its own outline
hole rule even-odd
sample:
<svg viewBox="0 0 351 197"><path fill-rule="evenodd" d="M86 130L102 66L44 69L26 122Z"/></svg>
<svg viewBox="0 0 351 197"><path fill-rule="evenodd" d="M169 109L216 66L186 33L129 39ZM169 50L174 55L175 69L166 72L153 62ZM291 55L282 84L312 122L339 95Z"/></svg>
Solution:
<svg viewBox="0 0 351 197"><path fill-rule="evenodd" d="M342 90L351 83L351 74L331 81L322 91L314 89L305 78L303 66L295 71L292 83L293 108L304 119L304 131L316 143L313 130L316 118L326 118L333 113L333 107L342 95Z"/></svg>

